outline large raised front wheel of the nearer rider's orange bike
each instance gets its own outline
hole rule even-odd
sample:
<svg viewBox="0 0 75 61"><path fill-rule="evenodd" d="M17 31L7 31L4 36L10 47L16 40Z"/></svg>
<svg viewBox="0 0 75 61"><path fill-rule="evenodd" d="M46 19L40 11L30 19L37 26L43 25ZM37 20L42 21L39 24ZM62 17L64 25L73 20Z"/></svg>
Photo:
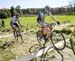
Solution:
<svg viewBox="0 0 75 61"><path fill-rule="evenodd" d="M56 43L58 43L58 42L59 43L62 42L63 43L63 47L62 46L57 47ZM52 33L52 35L51 35L51 43L54 46L54 48L58 49L58 50L63 50L66 47L65 37L63 36L63 34L61 32L54 31Z"/></svg>

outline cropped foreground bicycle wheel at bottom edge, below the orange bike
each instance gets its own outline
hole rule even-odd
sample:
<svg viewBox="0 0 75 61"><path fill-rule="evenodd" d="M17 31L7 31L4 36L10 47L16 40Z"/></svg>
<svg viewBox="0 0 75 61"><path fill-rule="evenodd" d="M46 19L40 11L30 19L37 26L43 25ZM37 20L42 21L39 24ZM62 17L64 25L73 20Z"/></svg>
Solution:
<svg viewBox="0 0 75 61"><path fill-rule="evenodd" d="M59 57L59 55L60 55L60 57L61 57L61 59L60 60L57 60L58 58L57 57ZM55 50L53 50L53 51L50 51L49 49L47 50L47 52L45 53L45 55L44 55L44 57L45 58L47 58L47 59L55 59L56 61L64 61L64 57L63 57L63 54L58 50L58 49L56 49L55 48ZM55 60L53 60L53 61L55 61Z"/></svg>

